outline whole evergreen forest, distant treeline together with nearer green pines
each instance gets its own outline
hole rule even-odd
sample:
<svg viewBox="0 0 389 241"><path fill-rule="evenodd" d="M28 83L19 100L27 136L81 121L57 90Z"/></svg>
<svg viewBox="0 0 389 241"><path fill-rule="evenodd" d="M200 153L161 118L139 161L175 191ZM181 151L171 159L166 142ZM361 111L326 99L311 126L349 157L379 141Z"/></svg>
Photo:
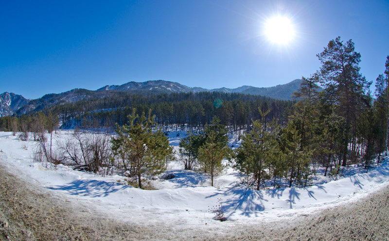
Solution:
<svg viewBox="0 0 389 241"><path fill-rule="evenodd" d="M149 145L166 151L159 156L154 150L149 159L154 155L163 161L171 153L160 130L168 128L188 131L179 145L185 169L197 167L213 178L223 170L222 160L228 159L244 177L243 182L256 190L305 187L318 168L325 169L324 176L334 178L341 175L342 167L352 164L368 172L372 162L380 162L382 153L388 151L389 56L383 63L384 73L376 79L374 94L372 81L360 73L361 54L355 51L352 40L344 43L337 37L317 57L320 69L302 77L294 101L220 92L122 95L1 117L0 130L19 132L22 140L33 133L34 139L41 140L39 133L52 133L59 126L116 128L122 141L114 138L111 149L122 163L129 161L125 168L131 170L130 177L139 179L140 187L139 170L144 166L135 166L131 162L135 157L128 155L134 150L123 149L121 143L135 139L136 131L144 135L148 131ZM151 129L159 129L155 140ZM235 141L241 140L233 151L228 146L229 133ZM51 154L48 159L61 161ZM100 167L113 162L105 163ZM162 162L147 168L155 175ZM99 167L88 170L99 172Z"/></svg>

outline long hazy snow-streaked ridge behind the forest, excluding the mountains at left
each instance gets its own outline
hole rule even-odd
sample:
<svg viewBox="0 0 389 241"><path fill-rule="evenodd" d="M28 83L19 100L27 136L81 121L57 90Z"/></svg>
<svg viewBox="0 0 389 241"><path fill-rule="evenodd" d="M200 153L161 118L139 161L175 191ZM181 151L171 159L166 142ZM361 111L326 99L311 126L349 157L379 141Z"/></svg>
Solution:
<svg viewBox="0 0 389 241"><path fill-rule="evenodd" d="M273 87L253 87L244 85L235 89L218 88L204 89L200 87L188 87L177 82L165 80L149 80L146 82L128 82L122 85L106 85L97 91L124 91L131 94L170 94L173 92L223 92L223 93L241 93L250 95L268 96L275 99L291 100L293 92L300 87L301 80L293 80L287 84L280 84Z"/></svg>

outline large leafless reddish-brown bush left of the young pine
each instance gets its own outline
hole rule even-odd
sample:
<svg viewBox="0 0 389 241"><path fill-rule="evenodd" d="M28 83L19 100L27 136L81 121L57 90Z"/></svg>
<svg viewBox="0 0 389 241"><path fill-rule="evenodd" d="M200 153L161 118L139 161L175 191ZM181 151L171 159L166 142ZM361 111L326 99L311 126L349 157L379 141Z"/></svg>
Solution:
<svg viewBox="0 0 389 241"><path fill-rule="evenodd" d="M74 129L71 138L60 145L64 162L74 170L106 176L112 171L110 135L97 129Z"/></svg>

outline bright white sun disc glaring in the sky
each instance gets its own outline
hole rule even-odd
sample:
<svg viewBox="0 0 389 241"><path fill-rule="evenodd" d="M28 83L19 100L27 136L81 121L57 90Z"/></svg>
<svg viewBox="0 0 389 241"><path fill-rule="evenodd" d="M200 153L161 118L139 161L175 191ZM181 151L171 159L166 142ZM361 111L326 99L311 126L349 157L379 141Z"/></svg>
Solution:
<svg viewBox="0 0 389 241"><path fill-rule="evenodd" d="M273 43L286 44L292 39L294 30L288 18L277 16L266 22L265 33Z"/></svg>

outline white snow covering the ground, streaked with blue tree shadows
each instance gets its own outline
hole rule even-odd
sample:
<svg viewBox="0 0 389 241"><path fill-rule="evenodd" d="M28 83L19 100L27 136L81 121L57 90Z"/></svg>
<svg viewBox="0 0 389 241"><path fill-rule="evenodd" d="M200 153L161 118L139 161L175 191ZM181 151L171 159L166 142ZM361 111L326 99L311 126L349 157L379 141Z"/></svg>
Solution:
<svg viewBox="0 0 389 241"><path fill-rule="evenodd" d="M62 131L56 138L69 135ZM178 134L178 136L177 136ZM169 132L175 144L184 132ZM237 225L293 219L339 204L353 202L389 184L389 157L368 173L358 166L348 167L340 179L317 177L306 188L280 188L261 191L247 190L237 185L238 172L229 168L215 180L215 187L204 174L182 170L171 162L166 173L176 177L157 179L152 184L158 190L141 190L124 185L124 177L98 177L71 167L33 162L35 143L22 142L11 132L0 132L0 160L16 167L27 179L36 182L53 195L81 202L102 215L138 224L164 222L171 225ZM162 176L162 175L161 175ZM226 222L213 220L208 210L221 199Z"/></svg>

